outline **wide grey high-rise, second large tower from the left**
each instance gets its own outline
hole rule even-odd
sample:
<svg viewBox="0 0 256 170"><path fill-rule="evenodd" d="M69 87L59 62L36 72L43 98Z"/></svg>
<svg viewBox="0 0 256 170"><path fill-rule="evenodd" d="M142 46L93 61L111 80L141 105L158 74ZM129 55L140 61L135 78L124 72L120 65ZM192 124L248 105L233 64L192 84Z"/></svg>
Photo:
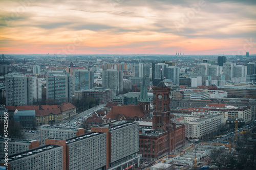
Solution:
<svg viewBox="0 0 256 170"><path fill-rule="evenodd" d="M47 77L46 99L55 104L71 102L73 96L73 76L65 71L49 72Z"/></svg>

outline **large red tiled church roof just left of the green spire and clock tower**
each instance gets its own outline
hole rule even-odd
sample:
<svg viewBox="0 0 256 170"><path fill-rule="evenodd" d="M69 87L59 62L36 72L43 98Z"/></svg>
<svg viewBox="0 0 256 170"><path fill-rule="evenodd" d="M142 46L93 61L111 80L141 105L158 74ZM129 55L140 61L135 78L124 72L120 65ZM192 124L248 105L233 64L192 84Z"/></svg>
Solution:
<svg viewBox="0 0 256 170"><path fill-rule="evenodd" d="M104 117L106 119L120 119L122 116L145 117L142 107L139 105L131 106L113 106L110 112Z"/></svg>

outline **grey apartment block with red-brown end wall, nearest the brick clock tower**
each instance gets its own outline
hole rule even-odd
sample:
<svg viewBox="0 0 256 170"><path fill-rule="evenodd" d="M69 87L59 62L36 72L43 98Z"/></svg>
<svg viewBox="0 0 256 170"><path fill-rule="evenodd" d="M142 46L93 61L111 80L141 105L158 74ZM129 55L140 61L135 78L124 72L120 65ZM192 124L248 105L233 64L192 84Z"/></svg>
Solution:
<svg viewBox="0 0 256 170"><path fill-rule="evenodd" d="M139 124L116 121L91 127L92 132L106 133L106 169L124 169L139 165Z"/></svg>

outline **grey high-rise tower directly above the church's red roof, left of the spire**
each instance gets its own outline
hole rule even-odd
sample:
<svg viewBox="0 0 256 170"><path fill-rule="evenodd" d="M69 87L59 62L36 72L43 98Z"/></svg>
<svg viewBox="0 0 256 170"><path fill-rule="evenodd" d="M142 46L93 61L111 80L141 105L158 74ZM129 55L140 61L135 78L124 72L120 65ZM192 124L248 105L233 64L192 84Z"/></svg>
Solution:
<svg viewBox="0 0 256 170"><path fill-rule="evenodd" d="M122 71L108 69L103 70L102 74L102 87L111 88L119 94L123 91L123 74Z"/></svg>

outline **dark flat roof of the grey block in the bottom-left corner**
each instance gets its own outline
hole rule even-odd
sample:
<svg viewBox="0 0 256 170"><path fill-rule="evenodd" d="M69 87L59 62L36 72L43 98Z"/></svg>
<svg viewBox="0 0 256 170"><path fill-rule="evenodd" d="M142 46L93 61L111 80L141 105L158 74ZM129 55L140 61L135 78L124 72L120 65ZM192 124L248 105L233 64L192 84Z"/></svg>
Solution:
<svg viewBox="0 0 256 170"><path fill-rule="evenodd" d="M17 154L13 154L13 155L8 156L8 162L15 161L15 160L18 160L18 159L23 159L25 157L29 157L31 155L46 152L46 151L49 151L49 150L52 150L52 149L55 149L55 148L59 148L59 147L62 147L62 146L49 144L49 145L45 145L45 146L42 146L42 147L37 147L37 148L31 149L31 150L19 152ZM3 158L3 157L0 158L0 162L4 162L4 160L5 160L5 158Z"/></svg>

